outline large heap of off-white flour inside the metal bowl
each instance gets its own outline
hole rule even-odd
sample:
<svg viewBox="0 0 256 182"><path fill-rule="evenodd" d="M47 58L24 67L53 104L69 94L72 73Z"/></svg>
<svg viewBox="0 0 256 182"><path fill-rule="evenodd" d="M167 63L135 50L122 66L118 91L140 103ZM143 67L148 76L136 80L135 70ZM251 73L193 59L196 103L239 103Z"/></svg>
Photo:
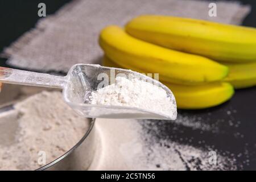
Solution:
<svg viewBox="0 0 256 182"><path fill-rule="evenodd" d="M44 166L38 164L39 151L45 152L46 164L52 162L79 142L89 125L64 103L60 92L35 94L0 114L0 169Z"/></svg>

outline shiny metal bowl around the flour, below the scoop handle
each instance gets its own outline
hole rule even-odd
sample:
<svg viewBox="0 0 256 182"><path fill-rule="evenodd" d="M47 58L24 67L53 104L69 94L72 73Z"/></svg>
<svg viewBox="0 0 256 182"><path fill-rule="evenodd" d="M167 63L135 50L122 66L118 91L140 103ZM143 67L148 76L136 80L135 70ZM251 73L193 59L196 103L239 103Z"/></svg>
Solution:
<svg viewBox="0 0 256 182"><path fill-rule="evenodd" d="M33 94L42 92L43 90L53 90L46 88L39 88L34 86L20 86L5 84L0 94L0 112L5 112L12 109L12 105L16 102L23 100ZM59 158L52 162L42 166L36 171L41 170L86 170L92 163L95 151L96 151L96 139L94 122L95 119L85 118L90 123L89 129L87 129L84 136L73 146L70 150L65 152ZM5 122L15 125L15 121ZM3 129L4 130L4 129ZM7 130L14 130L14 127L7 127ZM12 132L14 133L14 132ZM14 136L12 136L14 138ZM2 137L5 139L5 137ZM3 141L5 142L5 141Z"/></svg>

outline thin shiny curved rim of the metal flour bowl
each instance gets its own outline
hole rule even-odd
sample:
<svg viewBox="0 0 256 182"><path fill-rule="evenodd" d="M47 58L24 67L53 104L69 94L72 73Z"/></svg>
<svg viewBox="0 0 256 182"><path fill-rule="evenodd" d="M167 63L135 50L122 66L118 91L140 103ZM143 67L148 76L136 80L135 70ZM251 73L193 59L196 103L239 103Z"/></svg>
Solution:
<svg viewBox="0 0 256 182"><path fill-rule="evenodd" d="M50 162L50 163L48 163L48 164L46 164L46 165L44 165L44 166L42 166L42 167L40 167L40 168L38 168L38 169L35 169L35 171L43 171L43 170L45 170L45 169L47 169L47 168L49 168L49 167L52 167L53 165L59 163L59 162L60 162L61 160L63 160L64 158L67 158L67 156L71 155L72 152L73 152L74 150L76 150L76 148L79 147L82 142L84 142L84 140L88 137L88 135L89 135L90 132L92 131L92 129L93 129L93 127L94 127L94 124L95 124L96 118L86 118L86 119L90 119L90 127L89 127L89 129L86 131L86 133L84 134L84 136L79 140L79 142L77 142L77 143L75 144L75 146L73 146L71 149L69 149L67 152L65 152L65 154L61 155L59 158L53 160L52 162Z"/></svg>

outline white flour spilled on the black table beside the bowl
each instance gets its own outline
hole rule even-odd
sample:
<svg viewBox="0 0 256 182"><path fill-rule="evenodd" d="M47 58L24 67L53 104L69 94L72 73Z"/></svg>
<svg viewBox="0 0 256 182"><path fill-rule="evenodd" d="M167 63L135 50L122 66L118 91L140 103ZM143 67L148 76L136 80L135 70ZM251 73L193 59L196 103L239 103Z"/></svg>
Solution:
<svg viewBox="0 0 256 182"><path fill-rule="evenodd" d="M90 170L236 169L233 159L219 154L217 164L210 164L210 149L174 142L170 138L158 138L158 122L161 121L97 119L100 150Z"/></svg>

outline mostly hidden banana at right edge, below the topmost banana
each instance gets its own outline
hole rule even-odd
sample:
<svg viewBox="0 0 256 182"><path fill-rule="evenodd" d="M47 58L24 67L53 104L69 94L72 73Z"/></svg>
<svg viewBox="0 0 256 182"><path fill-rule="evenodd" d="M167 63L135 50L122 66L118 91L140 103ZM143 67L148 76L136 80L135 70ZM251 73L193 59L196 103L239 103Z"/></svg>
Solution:
<svg viewBox="0 0 256 182"><path fill-rule="evenodd" d="M229 67L229 75L224 81L230 82L236 89L256 85L256 63L223 63Z"/></svg>

